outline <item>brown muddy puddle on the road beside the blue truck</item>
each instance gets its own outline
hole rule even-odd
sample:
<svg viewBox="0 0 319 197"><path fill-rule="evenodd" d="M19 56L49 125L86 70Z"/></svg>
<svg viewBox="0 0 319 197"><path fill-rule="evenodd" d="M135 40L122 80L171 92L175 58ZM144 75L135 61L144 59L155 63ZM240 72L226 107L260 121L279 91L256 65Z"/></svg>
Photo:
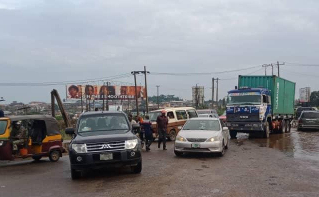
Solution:
<svg viewBox="0 0 319 197"><path fill-rule="evenodd" d="M275 148L289 157L319 161L319 132L298 132L271 134L269 139L249 138L248 134L238 133L235 142L238 146L246 140L260 147Z"/></svg>

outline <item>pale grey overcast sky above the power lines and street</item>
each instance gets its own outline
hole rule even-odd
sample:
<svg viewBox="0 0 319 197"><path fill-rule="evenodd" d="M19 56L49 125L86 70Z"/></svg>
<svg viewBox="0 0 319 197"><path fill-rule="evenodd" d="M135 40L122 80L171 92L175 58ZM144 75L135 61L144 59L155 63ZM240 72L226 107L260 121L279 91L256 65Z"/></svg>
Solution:
<svg viewBox="0 0 319 197"><path fill-rule="evenodd" d="M319 64L318 0L0 0L0 83L85 80L147 66L150 72L219 72L279 61ZM318 90L319 67L285 65L280 75ZM256 72L254 72L256 71ZM211 78L219 95L239 74L148 76L149 95L191 99ZM271 68L268 69L271 73ZM275 72L276 73L276 72ZM303 75L303 73L307 75ZM118 79L133 83L133 77ZM141 76L138 84L144 84ZM0 87L11 101L50 101L65 87Z"/></svg>

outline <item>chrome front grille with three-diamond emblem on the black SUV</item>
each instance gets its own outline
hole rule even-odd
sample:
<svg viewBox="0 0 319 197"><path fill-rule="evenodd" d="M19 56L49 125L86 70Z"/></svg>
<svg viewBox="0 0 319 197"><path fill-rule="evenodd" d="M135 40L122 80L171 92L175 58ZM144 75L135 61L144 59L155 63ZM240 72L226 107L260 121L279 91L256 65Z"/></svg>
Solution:
<svg viewBox="0 0 319 197"><path fill-rule="evenodd" d="M125 150L125 141L112 141L86 144L88 153Z"/></svg>

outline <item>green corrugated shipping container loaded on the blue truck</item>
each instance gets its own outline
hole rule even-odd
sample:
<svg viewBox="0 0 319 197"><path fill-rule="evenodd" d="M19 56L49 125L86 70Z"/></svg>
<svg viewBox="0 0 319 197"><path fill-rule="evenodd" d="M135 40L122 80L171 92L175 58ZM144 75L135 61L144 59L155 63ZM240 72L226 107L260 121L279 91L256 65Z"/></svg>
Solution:
<svg viewBox="0 0 319 197"><path fill-rule="evenodd" d="M239 75L238 87L267 88L271 91L273 115L293 115L296 83L276 76Z"/></svg>

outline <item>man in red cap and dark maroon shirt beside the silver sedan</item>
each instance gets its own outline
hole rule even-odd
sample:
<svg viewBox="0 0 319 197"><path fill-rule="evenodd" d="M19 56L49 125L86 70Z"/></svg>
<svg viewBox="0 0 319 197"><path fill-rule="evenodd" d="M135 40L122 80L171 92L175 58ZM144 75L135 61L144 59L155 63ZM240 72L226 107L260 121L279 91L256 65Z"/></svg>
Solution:
<svg viewBox="0 0 319 197"><path fill-rule="evenodd" d="M159 134L159 144L158 148L160 148L160 144L163 142L163 150L166 149L166 136L167 136L167 124L168 118L166 117L166 111L162 110L162 114L157 117L157 133Z"/></svg>

